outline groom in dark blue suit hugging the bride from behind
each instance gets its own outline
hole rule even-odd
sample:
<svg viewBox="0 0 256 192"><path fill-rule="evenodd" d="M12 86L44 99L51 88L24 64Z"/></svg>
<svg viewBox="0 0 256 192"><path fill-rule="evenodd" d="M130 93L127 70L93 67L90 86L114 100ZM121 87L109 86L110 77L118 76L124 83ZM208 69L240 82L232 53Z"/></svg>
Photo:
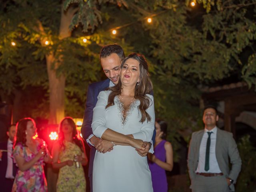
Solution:
<svg viewBox="0 0 256 192"><path fill-rule="evenodd" d="M86 140L90 144L89 146L91 147L89 173L88 173L88 176L90 178L91 192L92 192L92 168L93 168L95 152L97 150L94 146L96 146L99 142L102 142L103 144L105 142L105 140L102 140L101 138L94 136L92 133L91 125L92 125L93 108L97 103L98 94L101 91L105 90L106 88L112 87L118 83L120 72L121 72L121 63L124 57L125 57L124 50L120 45L113 44L113 45L104 46L100 51L100 63L108 79L90 84L88 86L86 108L84 111L84 120L81 128L81 133L84 140ZM155 138L155 130L154 130L153 138ZM145 150L137 150L140 156L146 156L148 152L150 153L154 152L153 147L151 147L152 143L144 142L144 144L146 146ZM106 153L106 152L110 152L111 150L113 150L113 148L104 147L104 150L101 152Z"/></svg>

